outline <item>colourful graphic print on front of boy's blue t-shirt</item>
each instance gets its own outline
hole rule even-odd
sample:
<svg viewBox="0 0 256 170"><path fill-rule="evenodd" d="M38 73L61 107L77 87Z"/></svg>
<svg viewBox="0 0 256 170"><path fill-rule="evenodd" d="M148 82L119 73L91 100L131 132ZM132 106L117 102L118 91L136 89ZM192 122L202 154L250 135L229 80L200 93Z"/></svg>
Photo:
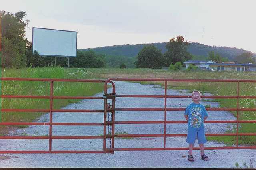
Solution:
<svg viewBox="0 0 256 170"><path fill-rule="evenodd" d="M202 108L192 107L191 108L191 117L190 117L190 126L194 128L199 128L202 125Z"/></svg>

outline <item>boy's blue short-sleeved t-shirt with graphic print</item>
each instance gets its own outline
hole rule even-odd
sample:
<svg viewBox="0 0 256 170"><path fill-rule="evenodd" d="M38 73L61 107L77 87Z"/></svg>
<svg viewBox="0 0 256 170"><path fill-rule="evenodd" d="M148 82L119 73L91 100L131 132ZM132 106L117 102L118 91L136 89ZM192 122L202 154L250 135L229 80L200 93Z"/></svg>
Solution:
<svg viewBox="0 0 256 170"><path fill-rule="evenodd" d="M188 128L204 127L204 117L208 116L204 105L191 103L186 107L185 115L188 115Z"/></svg>

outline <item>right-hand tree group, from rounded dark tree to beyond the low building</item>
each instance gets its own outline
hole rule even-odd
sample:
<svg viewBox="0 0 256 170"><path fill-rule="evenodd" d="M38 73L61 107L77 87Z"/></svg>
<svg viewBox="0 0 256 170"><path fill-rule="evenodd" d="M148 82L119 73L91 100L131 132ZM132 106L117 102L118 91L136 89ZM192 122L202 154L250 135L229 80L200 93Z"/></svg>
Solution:
<svg viewBox="0 0 256 170"><path fill-rule="evenodd" d="M212 60L227 62L227 57L221 57L220 54L210 51L208 57L192 55L187 51L189 43L184 41L183 36L177 36L176 39L172 38L166 43L167 51L162 54L160 49L154 45L146 45L139 53L138 60L136 61L136 67L147 68L162 68L162 66L168 66L170 69L180 69L184 61L194 60ZM256 59L253 57L252 52L246 52L238 55L234 61L236 63L256 63Z"/></svg>

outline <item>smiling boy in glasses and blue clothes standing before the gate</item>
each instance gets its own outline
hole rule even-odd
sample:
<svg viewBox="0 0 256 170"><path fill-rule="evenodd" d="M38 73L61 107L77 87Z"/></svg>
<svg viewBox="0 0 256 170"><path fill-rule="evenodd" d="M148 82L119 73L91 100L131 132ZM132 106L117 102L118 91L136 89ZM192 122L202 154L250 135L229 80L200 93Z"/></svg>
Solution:
<svg viewBox="0 0 256 170"><path fill-rule="evenodd" d="M184 115L188 121L188 136L186 142L189 143L189 161L194 161L192 150L196 138L201 150L202 160L209 160L208 156L204 154L204 143L207 142L204 134L204 121L208 117L208 113L206 112L205 107L199 103L200 99L201 93L197 90L194 90L192 93L193 103L186 107Z"/></svg>

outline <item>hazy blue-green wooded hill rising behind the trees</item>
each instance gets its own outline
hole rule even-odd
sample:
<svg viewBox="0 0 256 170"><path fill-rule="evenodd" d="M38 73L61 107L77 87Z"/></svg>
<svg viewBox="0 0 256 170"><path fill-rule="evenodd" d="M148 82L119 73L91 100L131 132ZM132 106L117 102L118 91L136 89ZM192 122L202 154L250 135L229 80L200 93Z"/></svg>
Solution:
<svg viewBox="0 0 256 170"><path fill-rule="evenodd" d="M131 58L131 57L137 56L139 51L145 45L154 45L158 49L160 49L162 53L165 53L167 51L165 48L166 42L151 43L151 44L136 44L136 45L130 45L130 44L114 45L114 46L108 46L108 47L87 48L87 49L80 49L80 50L81 51L93 50L99 54L105 54L110 56L124 56L124 57ZM203 59L204 57L206 59L206 57L208 57L208 53L210 51L214 51L215 53L220 54L221 57L228 58L230 61L234 61L234 58L237 55L240 55L245 52L249 52L244 49L231 48L231 47L216 47L216 46L200 44L198 42L190 42L187 50L192 55L201 56L200 57L201 59ZM254 53L254 56L256 57L256 53Z"/></svg>

